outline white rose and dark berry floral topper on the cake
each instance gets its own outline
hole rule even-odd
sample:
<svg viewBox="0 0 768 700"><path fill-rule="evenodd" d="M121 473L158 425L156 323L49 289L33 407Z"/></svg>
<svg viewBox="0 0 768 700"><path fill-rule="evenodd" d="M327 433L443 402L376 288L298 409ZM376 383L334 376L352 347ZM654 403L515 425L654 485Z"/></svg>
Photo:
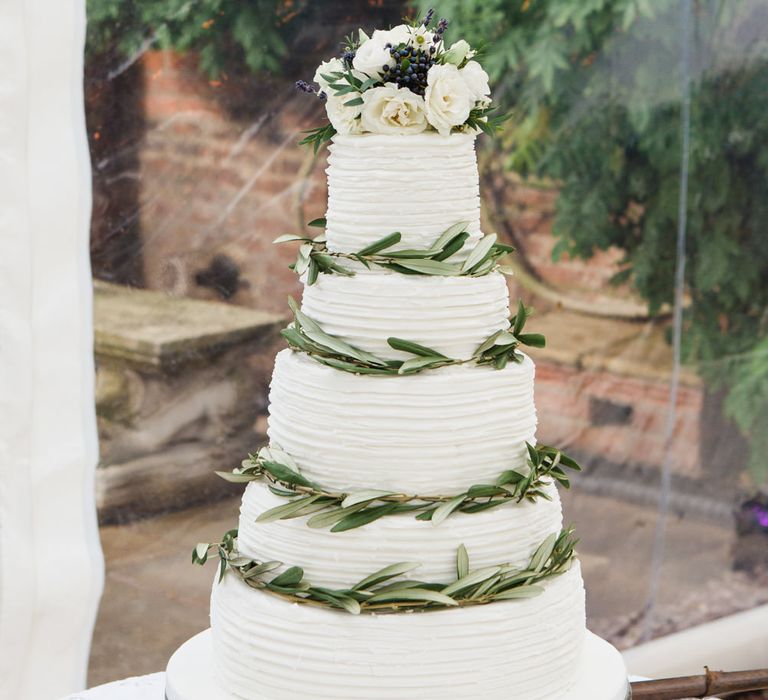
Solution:
<svg viewBox="0 0 768 700"><path fill-rule="evenodd" d="M317 149L336 133L492 134L504 117L490 116L488 74L463 39L446 48L447 27L448 20L435 23L430 10L417 23L347 37L341 57L320 64L315 85L296 83L325 101L330 122L302 143Z"/></svg>

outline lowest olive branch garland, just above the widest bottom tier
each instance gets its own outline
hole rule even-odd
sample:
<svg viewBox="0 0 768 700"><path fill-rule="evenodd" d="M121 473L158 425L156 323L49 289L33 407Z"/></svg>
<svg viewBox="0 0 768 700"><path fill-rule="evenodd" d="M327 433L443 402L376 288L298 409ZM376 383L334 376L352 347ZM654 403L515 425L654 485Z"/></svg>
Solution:
<svg viewBox="0 0 768 700"><path fill-rule="evenodd" d="M304 578L304 570L290 566L268 578L283 566L279 561L258 561L237 550L237 530L227 532L221 542L202 542L192 551L193 564L205 564L209 552L219 556L219 582L232 571L251 588L273 593L292 603L360 613L398 613L429 611L468 605L484 605L500 600L532 598L544 591L537 585L570 568L577 540L573 528L549 535L536 549L524 568L499 564L471 569L464 545L456 552L456 578L448 584L398 579L416 569L415 562L399 562L366 576L349 588L314 586Z"/></svg>

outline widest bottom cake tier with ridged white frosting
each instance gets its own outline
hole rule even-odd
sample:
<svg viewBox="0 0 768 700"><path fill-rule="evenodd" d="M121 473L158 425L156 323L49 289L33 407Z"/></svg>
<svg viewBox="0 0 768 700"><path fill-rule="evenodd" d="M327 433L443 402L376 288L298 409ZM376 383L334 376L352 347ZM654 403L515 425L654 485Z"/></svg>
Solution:
<svg viewBox="0 0 768 700"><path fill-rule="evenodd" d="M616 688L572 695L587 639L578 562L544 588L490 605L354 616L228 575L211 600L216 682L245 700L622 700Z"/></svg>

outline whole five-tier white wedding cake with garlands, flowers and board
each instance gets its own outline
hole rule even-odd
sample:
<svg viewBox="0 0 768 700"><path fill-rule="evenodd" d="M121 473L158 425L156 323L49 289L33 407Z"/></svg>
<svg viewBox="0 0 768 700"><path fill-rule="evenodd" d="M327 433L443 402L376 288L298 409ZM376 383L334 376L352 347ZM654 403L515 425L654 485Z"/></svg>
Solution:
<svg viewBox="0 0 768 700"><path fill-rule="evenodd" d="M585 627L558 484L536 443L544 338L511 314L480 229L488 77L446 21L362 31L324 62L328 208L297 241L301 306L270 390L269 447L232 473L211 630L169 700L623 700L621 657ZM212 670L211 670L212 669Z"/></svg>

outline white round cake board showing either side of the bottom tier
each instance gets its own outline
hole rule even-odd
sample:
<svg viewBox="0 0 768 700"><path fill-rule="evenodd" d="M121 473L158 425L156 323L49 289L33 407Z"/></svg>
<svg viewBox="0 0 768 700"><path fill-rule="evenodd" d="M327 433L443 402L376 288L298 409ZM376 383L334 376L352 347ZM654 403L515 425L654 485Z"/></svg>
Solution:
<svg viewBox="0 0 768 700"><path fill-rule="evenodd" d="M591 632L584 646L581 678L562 700L627 700L629 683L621 654ZM166 700L239 700L216 682L210 629L176 650L165 682Z"/></svg>

